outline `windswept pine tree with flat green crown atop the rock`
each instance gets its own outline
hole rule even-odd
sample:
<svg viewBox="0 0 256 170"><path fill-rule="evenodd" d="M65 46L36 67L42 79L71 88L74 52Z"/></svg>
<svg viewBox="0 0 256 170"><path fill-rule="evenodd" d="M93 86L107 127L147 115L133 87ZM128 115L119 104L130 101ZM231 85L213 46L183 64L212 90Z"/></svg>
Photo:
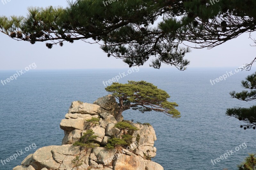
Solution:
<svg viewBox="0 0 256 170"><path fill-rule="evenodd" d="M127 84L113 83L105 89L119 101L119 111L116 115L118 122L123 119L123 111L130 108L141 113L154 110L174 118L180 117L180 112L175 108L178 105L167 101L169 94L152 83L128 81Z"/></svg>

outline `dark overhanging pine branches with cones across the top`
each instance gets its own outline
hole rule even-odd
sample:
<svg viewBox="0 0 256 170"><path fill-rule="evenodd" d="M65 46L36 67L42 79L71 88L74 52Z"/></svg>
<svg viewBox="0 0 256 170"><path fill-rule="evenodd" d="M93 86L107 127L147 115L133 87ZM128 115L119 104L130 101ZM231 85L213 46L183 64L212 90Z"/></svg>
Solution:
<svg viewBox="0 0 256 170"><path fill-rule="evenodd" d="M29 8L27 17L0 17L0 31L16 40L64 42L93 39L101 49L132 66L151 60L185 70L195 48L213 48L256 29L254 0L102 0L68 2L67 8ZM153 25L157 23L157 26Z"/></svg>

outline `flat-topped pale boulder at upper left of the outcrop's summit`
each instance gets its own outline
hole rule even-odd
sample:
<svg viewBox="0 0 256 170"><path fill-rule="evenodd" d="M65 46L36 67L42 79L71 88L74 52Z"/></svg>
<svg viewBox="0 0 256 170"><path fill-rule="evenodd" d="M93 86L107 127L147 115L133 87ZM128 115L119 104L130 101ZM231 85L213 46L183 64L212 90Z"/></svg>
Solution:
<svg viewBox="0 0 256 170"><path fill-rule="evenodd" d="M102 108L99 105L91 103L80 103L78 101L73 101L69 107L68 113L100 115L102 113Z"/></svg>

